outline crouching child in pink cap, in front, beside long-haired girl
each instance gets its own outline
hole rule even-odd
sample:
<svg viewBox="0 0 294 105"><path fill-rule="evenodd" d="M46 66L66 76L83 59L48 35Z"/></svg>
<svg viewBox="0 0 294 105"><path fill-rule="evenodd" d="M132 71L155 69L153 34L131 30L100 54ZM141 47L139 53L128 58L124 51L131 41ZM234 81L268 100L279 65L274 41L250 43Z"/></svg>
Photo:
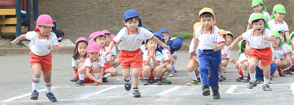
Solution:
<svg viewBox="0 0 294 105"><path fill-rule="evenodd" d="M84 65L78 69L79 82L76 86L85 86L85 81L91 79L94 85L102 83L104 61L99 57L99 45L97 43L89 43L87 46L87 55ZM90 80L90 81L91 81Z"/></svg>

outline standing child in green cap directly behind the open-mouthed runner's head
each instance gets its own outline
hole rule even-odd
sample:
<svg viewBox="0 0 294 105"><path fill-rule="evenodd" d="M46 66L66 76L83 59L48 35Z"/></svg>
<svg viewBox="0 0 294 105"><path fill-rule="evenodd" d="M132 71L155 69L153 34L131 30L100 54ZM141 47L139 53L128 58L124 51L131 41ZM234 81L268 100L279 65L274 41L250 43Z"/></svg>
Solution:
<svg viewBox="0 0 294 105"><path fill-rule="evenodd" d="M266 12L266 7L263 4L262 0L252 0L251 7L253 7L254 13L261 13L264 15L265 21L267 21L267 22L270 21L270 14L268 14L268 12ZM253 16L254 13L252 13L248 19L248 26L247 26L246 31L251 28L251 25L250 25L251 17Z"/></svg>

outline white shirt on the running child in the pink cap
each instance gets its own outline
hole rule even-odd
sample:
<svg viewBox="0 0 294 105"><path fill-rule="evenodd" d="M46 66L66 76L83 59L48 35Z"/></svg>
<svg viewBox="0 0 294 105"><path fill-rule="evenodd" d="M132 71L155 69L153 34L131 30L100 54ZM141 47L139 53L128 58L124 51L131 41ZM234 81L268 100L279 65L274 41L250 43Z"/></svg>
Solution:
<svg viewBox="0 0 294 105"><path fill-rule="evenodd" d="M49 33L46 39L41 39L41 33L39 33L39 31L29 31L26 33L25 37L27 40L31 40L29 44L31 51L39 56L49 54L51 51L51 43L53 43L54 46L58 46L58 40L53 32Z"/></svg>

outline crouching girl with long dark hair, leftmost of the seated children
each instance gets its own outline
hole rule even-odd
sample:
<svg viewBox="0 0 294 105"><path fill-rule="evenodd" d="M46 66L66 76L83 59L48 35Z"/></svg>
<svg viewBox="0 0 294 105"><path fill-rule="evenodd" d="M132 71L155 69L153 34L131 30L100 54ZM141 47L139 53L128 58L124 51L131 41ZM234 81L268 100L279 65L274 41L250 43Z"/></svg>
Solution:
<svg viewBox="0 0 294 105"><path fill-rule="evenodd" d="M74 50L73 59L71 60L71 66L74 68L75 75L78 74L78 68L84 65L87 54L88 41L84 37L80 37L76 40L76 49ZM74 77L70 81L78 81L78 77Z"/></svg>

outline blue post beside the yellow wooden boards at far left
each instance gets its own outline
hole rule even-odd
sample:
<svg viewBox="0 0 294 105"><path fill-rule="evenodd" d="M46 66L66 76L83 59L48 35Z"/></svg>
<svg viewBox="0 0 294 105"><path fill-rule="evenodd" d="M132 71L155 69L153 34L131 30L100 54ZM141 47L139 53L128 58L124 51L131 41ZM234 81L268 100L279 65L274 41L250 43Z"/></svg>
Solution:
<svg viewBox="0 0 294 105"><path fill-rule="evenodd" d="M16 9L15 17L17 19L17 24L16 24L16 38L17 38L21 35L21 0L16 0L15 9ZM16 43L16 44L20 45L21 40L19 41L19 43Z"/></svg>

